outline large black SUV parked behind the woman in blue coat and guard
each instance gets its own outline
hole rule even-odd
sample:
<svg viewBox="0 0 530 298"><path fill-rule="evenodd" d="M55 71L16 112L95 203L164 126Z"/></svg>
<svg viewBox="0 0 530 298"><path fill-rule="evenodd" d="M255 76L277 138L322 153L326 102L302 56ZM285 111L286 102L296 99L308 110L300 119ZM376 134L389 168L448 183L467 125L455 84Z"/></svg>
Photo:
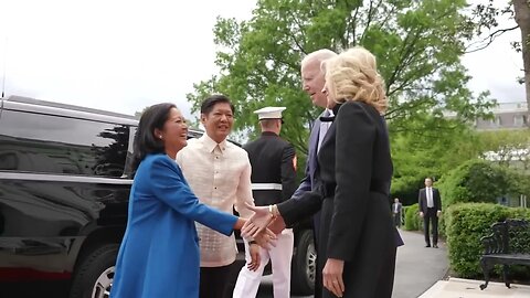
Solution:
<svg viewBox="0 0 530 298"><path fill-rule="evenodd" d="M29 283L62 284L71 298L107 297L138 120L26 97L0 100L0 297L40 290ZM312 291L315 256L310 226L298 226L294 292Z"/></svg>

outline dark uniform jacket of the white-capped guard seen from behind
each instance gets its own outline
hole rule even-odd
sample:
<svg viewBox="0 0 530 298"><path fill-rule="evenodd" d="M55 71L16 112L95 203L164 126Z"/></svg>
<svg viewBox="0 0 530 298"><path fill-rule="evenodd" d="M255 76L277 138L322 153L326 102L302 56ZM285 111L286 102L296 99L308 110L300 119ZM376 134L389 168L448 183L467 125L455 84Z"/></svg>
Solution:
<svg viewBox="0 0 530 298"><path fill-rule="evenodd" d="M252 183L282 184L282 190L254 190L254 203L263 206L290 199L297 187L295 148L278 135L267 131L243 148L251 160Z"/></svg>

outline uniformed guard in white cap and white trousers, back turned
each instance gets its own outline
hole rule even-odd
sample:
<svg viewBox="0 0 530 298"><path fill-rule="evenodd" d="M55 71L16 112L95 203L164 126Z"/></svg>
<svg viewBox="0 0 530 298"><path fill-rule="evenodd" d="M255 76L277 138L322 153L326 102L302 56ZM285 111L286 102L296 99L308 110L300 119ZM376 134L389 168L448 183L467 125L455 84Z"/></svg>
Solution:
<svg viewBox="0 0 530 298"><path fill-rule="evenodd" d="M262 136L243 147L251 160L253 196L258 206L288 200L298 187L295 148L279 137L284 109L285 107L265 107L254 111L259 119ZM256 297L263 270L269 259L273 269L274 297L290 297L293 246L293 230L284 230L278 235L276 247L271 251L261 249L261 265L257 270L252 272L243 267L237 277L233 297ZM245 257L248 262L248 254Z"/></svg>

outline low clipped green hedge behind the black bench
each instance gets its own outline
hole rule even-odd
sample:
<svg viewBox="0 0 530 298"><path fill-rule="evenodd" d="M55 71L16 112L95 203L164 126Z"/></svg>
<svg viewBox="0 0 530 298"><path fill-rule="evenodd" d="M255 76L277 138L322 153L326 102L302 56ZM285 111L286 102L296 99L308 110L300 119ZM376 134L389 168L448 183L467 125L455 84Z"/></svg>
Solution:
<svg viewBox="0 0 530 298"><path fill-rule="evenodd" d="M484 247L480 238L491 233L491 224L506 219L530 220L530 209L462 203L449 206L445 216L451 267L459 277L475 278L481 276L479 259Z"/></svg>

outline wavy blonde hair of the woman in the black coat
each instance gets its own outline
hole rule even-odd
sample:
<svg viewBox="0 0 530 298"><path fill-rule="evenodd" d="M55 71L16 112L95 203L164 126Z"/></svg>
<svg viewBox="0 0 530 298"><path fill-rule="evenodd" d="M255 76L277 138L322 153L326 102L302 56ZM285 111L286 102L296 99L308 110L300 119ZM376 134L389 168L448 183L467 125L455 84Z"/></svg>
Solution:
<svg viewBox="0 0 530 298"><path fill-rule="evenodd" d="M384 82L375 56L362 46L349 49L322 64L326 85L336 103L348 100L372 105L383 114L388 108Z"/></svg>

